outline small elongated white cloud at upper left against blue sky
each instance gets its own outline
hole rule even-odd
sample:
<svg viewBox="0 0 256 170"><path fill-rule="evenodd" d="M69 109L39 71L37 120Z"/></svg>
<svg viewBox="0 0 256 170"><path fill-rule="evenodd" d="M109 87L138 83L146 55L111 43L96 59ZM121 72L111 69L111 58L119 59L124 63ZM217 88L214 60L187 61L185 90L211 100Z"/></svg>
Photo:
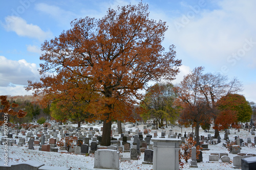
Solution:
<svg viewBox="0 0 256 170"><path fill-rule="evenodd" d="M52 37L50 31L42 31L40 27L32 23L28 24L26 20L17 16L7 16L4 27L7 31L14 31L18 36L36 38L39 41Z"/></svg>

